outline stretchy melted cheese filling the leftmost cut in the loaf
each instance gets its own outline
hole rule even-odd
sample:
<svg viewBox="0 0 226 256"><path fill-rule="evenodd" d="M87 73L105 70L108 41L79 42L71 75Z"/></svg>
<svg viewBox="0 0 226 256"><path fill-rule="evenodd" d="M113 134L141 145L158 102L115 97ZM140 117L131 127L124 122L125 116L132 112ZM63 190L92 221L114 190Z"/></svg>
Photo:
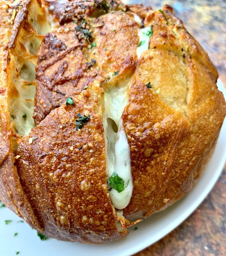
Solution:
<svg viewBox="0 0 226 256"><path fill-rule="evenodd" d="M52 25L49 25L46 22L45 25L43 25L43 23L39 24L35 19L34 22L31 22L30 24L34 28L33 36L25 37L26 40L22 43L26 48L25 56L29 56L30 54L30 60L32 62L24 60L21 57L18 59L17 56L15 56L15 70L13 71L14 75L12 81L14 93L9 99L11 125L14 132L20 135L28 135L31 129L35 126L33 112L36 92L36 53L42 41L42 36L39 36L38 34L44 35L53 30Z"/></svg>

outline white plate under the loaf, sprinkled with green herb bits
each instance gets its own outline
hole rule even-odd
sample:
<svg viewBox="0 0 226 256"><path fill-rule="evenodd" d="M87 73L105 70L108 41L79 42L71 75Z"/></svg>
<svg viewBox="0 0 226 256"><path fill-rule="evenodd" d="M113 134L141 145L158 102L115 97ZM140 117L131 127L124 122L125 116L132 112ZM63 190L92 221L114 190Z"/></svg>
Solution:
<svg viewBox="0 0 226 256"><path fill-rule="evenodd" d="M218 87L226 97L220 80ZM41 241L37 232L7 208L0 208L0 255L13 256L128 256L155 243L183 222L203 201L220 176L226 161L226 120L208 166L194 188L165 211L153 214L131 229L130 234L117 242L102 245L62 242L56 239ZM12 220L5 225L5 220ZM16 237L14 234L18 233Z"/></svg>

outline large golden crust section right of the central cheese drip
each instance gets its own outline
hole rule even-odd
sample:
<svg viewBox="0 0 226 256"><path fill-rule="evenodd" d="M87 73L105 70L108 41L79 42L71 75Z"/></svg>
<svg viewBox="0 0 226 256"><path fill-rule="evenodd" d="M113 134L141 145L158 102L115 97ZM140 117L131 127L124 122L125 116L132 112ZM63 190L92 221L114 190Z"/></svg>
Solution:
<svg viewBox="0 0 226 256"><path fill-rule="evenodd" d="M138 60L123 114L134 183L123 210L128 218L163 210L192 187L226 112L216 70L199 44L189 36L192 44L181 45L184 32L176 38L163 14L156 16L150 50Z"/></svg>

